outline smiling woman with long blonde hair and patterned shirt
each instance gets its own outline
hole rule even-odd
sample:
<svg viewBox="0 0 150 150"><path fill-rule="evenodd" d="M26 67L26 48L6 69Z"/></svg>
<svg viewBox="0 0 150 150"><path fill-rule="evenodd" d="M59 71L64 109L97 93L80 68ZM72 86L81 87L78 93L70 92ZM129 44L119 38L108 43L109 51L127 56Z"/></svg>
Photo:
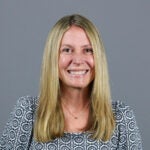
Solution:
<svg viewBox="0 0 150 150"><path fill-rule="evenodd" d="M81 15L61 18L47 38L38 98L22 97L1 149L142 149L133 111L111 102L104 47Z"/></svg>

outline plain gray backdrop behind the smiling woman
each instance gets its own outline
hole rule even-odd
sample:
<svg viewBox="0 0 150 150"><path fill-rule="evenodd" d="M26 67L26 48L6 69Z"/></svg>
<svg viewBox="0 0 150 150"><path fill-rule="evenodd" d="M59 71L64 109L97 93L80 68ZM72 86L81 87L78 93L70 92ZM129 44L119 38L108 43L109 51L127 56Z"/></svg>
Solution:
<svg viewBox="0 0 150 150"><path fill-rule="evenodd" d="M0 134L20 96L38 94L49 29L80 13L100 29L109 63L113 100L135 112L144 149L150 136L150 1L0 0Z"/></svg>

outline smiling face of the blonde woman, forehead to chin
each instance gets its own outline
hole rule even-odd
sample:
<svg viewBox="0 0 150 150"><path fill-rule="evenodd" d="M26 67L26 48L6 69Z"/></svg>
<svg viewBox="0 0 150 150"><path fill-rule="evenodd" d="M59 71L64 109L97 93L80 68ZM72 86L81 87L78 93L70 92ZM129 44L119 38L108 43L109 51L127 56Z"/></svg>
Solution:
<svg viewBox="0 0 150 150"><path fill-rule="evenodd" d="M94 79L94 58L85 31L71 26L64 34L59 50L59 78L61 85L86 88Z"/></svg>

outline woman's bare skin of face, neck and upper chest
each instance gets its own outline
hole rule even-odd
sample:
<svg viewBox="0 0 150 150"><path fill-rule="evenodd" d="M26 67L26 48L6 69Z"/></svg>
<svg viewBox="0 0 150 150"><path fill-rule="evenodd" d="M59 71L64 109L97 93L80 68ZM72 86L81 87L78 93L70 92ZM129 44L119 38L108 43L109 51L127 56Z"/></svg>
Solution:
<svg viewBox="0 0 150 150"><path fill-rule="evenodd" d="M94 58L85 31L77 26L71 26L62 38L59 78L65 130L81 132L89 116L89 85L94 79Z"/></svg>

